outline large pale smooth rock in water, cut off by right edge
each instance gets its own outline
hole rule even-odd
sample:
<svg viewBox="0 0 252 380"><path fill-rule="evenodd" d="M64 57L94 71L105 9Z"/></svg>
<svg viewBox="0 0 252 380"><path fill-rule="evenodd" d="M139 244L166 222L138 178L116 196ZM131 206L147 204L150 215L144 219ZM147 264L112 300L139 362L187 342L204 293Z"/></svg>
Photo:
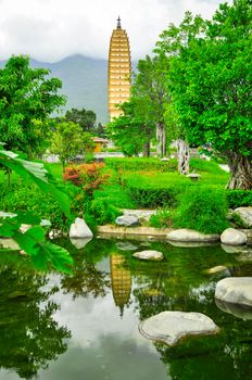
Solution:
<svg viewBox="0 0 252 380"><path fill-rule="evenodd" d="M252 307L252 277L229 277L218 281L215 299Z"/></svg>

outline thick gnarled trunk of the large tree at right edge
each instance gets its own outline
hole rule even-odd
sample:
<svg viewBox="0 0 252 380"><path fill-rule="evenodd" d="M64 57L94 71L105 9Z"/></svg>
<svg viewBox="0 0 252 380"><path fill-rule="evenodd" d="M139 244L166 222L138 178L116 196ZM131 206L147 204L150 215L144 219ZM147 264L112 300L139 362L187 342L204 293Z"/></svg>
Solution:
<svg viewBox="0 0 252 380"><path fill-rule="evenodd" d="M231 178L227 185L227 189L252 189L252 162L250 159L238 153L228 154L228 166L230 168Z"/></svg>

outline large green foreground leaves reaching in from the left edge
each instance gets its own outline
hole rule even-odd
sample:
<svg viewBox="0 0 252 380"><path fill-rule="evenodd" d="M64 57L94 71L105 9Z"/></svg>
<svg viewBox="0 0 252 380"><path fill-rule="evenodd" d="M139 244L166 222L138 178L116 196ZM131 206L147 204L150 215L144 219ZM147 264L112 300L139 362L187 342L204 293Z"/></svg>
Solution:
<svg viewBox="0 0 252 380"><path fill-rule="evenodd" d="M3 150L0 145L0 164L14 170L25 180L32 180L45 193L49 193L60 204L66 217L72 217L70 200L54 178L46 170L42 164L21 160L17 154ZM24 233L22 224L32 225ZM70 271L68 265L73 263L68 252L61 246L50 243L45 239L45 230L40 226L41 218L28 213L15 210L0 212L0 236L12 238L40 269L46 269L50 262L56 269Z"/></svg>

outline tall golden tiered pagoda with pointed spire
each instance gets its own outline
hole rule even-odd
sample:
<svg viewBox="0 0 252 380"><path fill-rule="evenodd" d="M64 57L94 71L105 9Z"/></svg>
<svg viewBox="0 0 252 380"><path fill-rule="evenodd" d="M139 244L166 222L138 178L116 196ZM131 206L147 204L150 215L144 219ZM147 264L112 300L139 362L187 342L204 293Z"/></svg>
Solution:
<svg viewBox="0 0 252 380"><path fill-rule="evenodd" d="M130 94L130 49L126 30L122 29L121 18L117 28L113 30L109 54L109 114L110 121L122 114L115 104L129 99Z"/></svg>

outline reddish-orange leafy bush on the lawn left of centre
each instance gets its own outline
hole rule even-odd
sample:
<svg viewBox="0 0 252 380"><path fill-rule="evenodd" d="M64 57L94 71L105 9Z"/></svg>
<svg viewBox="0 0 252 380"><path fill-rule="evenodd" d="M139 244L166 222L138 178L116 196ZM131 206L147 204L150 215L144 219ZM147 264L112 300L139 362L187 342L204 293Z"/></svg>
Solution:
<svg viewBox="0 0 252 380"><path fill-rule="evenodd" d="M89 195L105 183L109 177L110 174L104 173L104 164L96 163L67 166L63 175L64 180L81 188Z"/></svg>

